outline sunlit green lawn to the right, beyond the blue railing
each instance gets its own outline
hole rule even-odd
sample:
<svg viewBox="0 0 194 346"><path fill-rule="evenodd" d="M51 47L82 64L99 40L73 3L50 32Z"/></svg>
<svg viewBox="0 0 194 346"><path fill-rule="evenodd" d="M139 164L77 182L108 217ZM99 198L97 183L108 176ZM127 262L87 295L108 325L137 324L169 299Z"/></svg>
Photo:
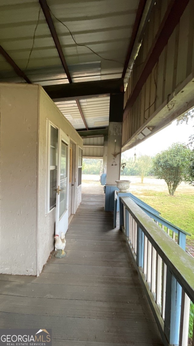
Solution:
<svg viewBox="0 0 194 346"><path fill-rule="evenodd" d="M175 192L172 197L153 190L135 191L134 194L161 212L166 220L190 233L187 244L194 245L194 194Z"/></svg>

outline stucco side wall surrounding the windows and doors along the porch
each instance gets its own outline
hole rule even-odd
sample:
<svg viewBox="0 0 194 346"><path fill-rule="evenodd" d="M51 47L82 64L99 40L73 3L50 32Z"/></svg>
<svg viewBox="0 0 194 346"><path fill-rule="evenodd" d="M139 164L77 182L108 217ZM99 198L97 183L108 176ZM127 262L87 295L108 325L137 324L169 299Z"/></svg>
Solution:
<svg viewBox="0 0 194 346"><path fill-rule="evenodd" d="M62 115L46 92L40 88L39 99L39 163L38 163L38 232L39 232L39 272L54 249L56 208L47 212L47 119L61 128L77 145L83 147L83 140L70 122ZM77 176L77 174L76 174ZM76 209L81 202L81 186L76 188Z"/></svg>

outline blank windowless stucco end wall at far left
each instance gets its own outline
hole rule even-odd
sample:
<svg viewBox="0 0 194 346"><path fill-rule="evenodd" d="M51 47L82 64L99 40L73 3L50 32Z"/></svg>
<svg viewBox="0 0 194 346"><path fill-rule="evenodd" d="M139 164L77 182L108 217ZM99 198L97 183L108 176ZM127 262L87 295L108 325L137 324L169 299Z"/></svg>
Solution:
<svg viewBox="0 0 194 346"><path fill-rule="evenodd" d="M38 86L0 84L0 272L36 275Z"/></svg>

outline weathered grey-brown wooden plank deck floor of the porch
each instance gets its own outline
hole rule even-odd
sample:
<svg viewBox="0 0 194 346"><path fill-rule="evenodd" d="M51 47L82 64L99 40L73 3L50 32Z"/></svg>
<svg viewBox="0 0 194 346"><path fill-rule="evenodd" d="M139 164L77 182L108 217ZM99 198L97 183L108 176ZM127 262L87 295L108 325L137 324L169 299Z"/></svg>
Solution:
<svg viewBox="0 0 194 346"><path fill-rule="evenodd" d="M54 346L163 345L104 194L83 194L66 257L40 277L0 275L0 328L52 328Z"/></svg>

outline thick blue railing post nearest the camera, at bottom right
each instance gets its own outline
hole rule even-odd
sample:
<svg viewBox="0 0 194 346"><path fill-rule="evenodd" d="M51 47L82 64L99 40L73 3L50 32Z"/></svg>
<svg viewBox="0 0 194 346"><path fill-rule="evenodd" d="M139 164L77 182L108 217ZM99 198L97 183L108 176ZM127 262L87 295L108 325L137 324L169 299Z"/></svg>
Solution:
<svg viewBox="0 0 194 346"><path fill-rule="evenodd" d="M167 267L164 333L169 344L178 345L182 288Z"/></svg>

